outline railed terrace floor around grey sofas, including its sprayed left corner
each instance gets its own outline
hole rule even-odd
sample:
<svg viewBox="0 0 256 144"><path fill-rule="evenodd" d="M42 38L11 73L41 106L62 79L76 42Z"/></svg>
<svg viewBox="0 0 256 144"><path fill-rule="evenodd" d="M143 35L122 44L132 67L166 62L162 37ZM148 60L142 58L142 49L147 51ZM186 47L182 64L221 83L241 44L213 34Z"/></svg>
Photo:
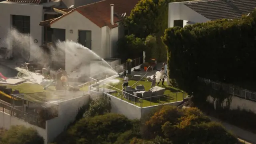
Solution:
<svg viewBox="0 0 256 144"><path fill-rule="evenodd" d="M139 81L129 80L129 86L131 86L132 88L136 88L136 86L138 85L143 85L145 91L148 91L151 88L151 82L148 82L146 78L142 78L142 80ZM87 88L88 90L89 87L90 86L86 86L84 87L84 89ZM92 89L94 89L94 91L98 90L99 92L109 93L112 96L120 98L121 100L129 102L141 108L182 101L183 98L186 96L186 93L171 86L168 86L167 82L164 82L164 86L159 84L159 87L165 88L164 94L150 96L147 98L141 98L135 96L134 94L128 94L127 92L124 92L122 90L122 78L115 78L104 84L99 84L98 86L94 85Z"/></svg>

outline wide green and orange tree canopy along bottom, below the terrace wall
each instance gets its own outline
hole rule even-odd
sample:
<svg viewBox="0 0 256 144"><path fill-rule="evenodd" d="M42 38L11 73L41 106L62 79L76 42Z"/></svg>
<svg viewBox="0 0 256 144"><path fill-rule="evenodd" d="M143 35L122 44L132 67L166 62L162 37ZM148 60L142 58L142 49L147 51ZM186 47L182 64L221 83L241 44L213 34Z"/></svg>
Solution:
<svg viewBox="0 0 256 144"><path fill-rule="evenodd" d="M197 108L178 109L176 106L163 106L148 113L141 121L129 120L121 114L114 113L84 117L71 126L55 144L63 142L65 144L236 144L238 140L220 124L210 122L210 119Z"/></svg>

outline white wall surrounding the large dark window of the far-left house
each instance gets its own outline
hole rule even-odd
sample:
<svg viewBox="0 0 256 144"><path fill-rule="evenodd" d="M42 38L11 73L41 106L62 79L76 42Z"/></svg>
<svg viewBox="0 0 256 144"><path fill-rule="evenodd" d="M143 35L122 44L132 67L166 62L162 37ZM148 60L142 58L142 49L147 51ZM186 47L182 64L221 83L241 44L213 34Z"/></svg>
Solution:
<svg viewBox="0 0 256 144"><path fill-rule="evenodd" d="M11 15L30 16L30 34L32 37L30 46L34 45L34 39L38 40L35 45L42 45L43 26L39 26L39 23L44 20L43 6L0 2L0 47L8 48L8 45L4 43L4 39L12 28ZM9 50L9 54L12 54L12 47L9 47Z"/></svg>

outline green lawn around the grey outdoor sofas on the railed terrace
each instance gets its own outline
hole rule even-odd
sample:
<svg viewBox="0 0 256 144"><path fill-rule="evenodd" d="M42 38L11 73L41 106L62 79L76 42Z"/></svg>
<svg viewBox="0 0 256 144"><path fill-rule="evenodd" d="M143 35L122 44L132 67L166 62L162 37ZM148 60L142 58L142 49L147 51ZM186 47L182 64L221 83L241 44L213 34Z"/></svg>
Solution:
<svg viewBox="0 0 256 144"><path fill-rule="evenodd" d="M121 81L122 78L119 78L119 80ZM134 85L136 82L137 81L129 80L129 86ZM135 88L136 85L140 85L140 84L144 85L146 91L148 91L151 88L151 82L148 82L145 79L136 83L134 86L132 86L132 88ZM112 88L110 86L106 86L106 88L117 91L117 92L111 93L113 96L121 98L122 100L126 100L126 101L128 101L132 104L135 104L137 106L140 106L140 107L154 106L154 105L158 105L158 104L176 102L176 101L183 100L183 96L186 96L185 94L183 95L183 92L181 92L180 90L173 88L171 86L167 86L166 82L164 82L164 84L165 85L162 86L162 83L160 83L159 86L166 88L166 90L164 92L165 96L161 96L161 97L157 97L157 98L147 98L147 99L135 98L135 100L134 100L134 98L133 99L131 98L132 100L127 100L126 98L124 98L122 96L122 82L117 83L117 84L113 84L113 83L109 84L109 85L113 86L114 88Z"/></svg>

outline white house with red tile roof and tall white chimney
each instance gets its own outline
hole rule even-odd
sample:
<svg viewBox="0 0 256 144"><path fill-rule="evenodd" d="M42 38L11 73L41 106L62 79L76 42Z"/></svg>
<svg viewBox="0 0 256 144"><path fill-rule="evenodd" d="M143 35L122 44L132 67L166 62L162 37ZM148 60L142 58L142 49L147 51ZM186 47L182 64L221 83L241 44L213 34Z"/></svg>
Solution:
<svg viewBox="0 0 256 144"><path fill-rule="evenodd" d="M52 29L61 30L63 40L78 42L101 58L113 58L116 56L116 42L124 36L124 28L120 22L124 16L130 15L137 3L138 0L102 0L79 6L70 12L60 10L64 13L62 16L41 22L41 25L50 25ZM65 69L70 72L76 62L74 56L67 54L66 52ZM76 59L82 60L85 56L82 50L76 52Z"/></svg>

